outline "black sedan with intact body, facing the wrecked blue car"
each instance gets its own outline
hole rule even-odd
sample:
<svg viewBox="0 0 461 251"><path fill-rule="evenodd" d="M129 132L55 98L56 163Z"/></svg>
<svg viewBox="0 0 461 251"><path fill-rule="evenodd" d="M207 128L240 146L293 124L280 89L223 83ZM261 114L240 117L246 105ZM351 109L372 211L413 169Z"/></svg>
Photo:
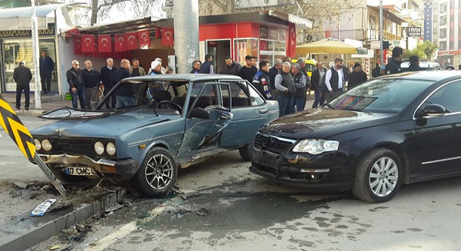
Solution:
<svg viewBox="0 0 461 251"><path fill-rule="evenodd" d="M260 128L250 171L388 201L402 183L461 175L461 73L380 77Z"/></svg>

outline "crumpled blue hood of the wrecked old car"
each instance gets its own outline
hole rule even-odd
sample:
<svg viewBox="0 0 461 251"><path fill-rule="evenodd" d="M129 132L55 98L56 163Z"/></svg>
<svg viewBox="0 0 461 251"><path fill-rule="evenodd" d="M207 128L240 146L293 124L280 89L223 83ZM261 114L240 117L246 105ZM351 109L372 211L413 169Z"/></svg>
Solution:
<svg viewBox="0 0 461 251"><path fill-rule="evenodd" d="M64 114L64 111L61 112ZM73 110L72 113L72 119L69 116L66 118L48 117L47 119L59 119L59 121L31 130L31 134L63 137L115 137L142 126L180 118L180 115L156 116L152 109L134 109L128 112Z"/></svg>

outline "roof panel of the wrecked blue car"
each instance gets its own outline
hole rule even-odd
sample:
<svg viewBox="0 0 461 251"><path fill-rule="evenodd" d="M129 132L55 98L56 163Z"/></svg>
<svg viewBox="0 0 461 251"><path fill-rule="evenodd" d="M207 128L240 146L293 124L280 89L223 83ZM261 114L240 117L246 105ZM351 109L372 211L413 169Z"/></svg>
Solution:
<svg viewBox="0 0 461 251"><path fill-rule="evenodd" d="M159 75L145 75L138 77L127 77L122 82L138 82L138 81L214 81L219 79L242 80L241 77L235 75L224 74L159 74Z"/></svg>

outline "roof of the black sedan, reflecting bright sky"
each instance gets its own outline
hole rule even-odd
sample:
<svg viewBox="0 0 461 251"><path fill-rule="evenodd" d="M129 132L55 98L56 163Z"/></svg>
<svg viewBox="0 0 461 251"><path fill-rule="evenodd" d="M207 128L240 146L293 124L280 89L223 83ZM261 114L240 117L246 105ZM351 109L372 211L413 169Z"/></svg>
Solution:
<svg viewBox="0 0 461 251"><path fill-rule="evenodd" d="M459 70L420 70L415 72L406 72L400 74L386 75L383 78L404 78L415 80L430 80L439 82L441 80L461 79Z"/></svg>

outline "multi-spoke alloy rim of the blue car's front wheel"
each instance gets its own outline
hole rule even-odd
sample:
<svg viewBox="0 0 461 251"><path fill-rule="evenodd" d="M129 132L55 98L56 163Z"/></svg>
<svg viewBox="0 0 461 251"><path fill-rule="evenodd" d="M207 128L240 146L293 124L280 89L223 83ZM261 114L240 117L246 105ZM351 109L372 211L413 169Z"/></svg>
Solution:
<svg viewBox="0 0 461 251"><path fill-rule="evenodd" d="M155 190L166 188L173 178L173 163L163 154L152 156L145 170L146 181Z"/></svg>

